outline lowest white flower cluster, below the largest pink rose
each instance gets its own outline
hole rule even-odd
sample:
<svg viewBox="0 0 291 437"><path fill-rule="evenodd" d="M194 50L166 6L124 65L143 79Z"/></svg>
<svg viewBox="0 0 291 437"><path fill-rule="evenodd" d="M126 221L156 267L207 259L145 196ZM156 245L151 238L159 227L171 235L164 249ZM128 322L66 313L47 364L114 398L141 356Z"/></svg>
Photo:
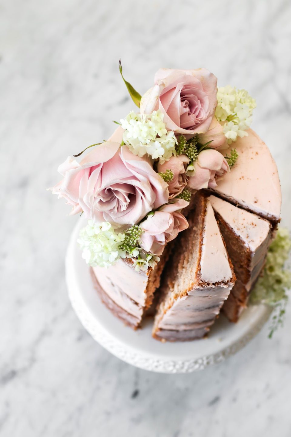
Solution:
<svg viewBox="0 0 291 437"><path fill-rule="evenodd" d="M92 267L108 267L126 257L125 251L119 247L124 238L125 235L116 233L109 222L95 224L89 220L78 239L82 258Z"/></svg>

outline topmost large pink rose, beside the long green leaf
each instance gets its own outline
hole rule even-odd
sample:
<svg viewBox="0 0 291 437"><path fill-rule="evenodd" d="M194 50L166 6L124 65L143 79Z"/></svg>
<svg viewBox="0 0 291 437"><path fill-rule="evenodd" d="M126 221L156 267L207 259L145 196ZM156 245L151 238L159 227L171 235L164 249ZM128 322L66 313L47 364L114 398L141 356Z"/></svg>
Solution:
<svg viewBox="0 0 291 437"><path fill-rule="evenodd" d="M188 139L208 131L217 105L217 78L205 68L159 69L140 101L141 114L160 109L168 130Z"/></svg>

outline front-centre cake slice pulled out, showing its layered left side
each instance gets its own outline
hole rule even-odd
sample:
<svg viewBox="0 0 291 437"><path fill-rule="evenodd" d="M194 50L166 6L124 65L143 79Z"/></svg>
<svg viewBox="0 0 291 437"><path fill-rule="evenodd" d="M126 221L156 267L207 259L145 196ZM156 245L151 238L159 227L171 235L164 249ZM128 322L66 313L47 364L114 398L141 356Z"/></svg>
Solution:
<svg viewBox="0 0 291 437"><path fill-rule="evenodd" d="M162 341L205 336L235 282L211 203L202 194L195 195L188 221L164 268L153 329Z"/></svg>

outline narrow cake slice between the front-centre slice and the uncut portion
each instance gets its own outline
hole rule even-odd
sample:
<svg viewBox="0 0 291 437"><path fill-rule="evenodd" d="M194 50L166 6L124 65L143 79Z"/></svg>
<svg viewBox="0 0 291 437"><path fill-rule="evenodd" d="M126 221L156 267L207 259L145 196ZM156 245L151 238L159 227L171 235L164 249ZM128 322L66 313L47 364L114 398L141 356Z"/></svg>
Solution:
<svg viewBox="0 0 291 437"><path fill-rule="evenodd" d="M237 322L246 307L250 290L264 267L272 226L256 214L216 196L209 196L236 274L236 283L223 305L231 322Z"/></svg>

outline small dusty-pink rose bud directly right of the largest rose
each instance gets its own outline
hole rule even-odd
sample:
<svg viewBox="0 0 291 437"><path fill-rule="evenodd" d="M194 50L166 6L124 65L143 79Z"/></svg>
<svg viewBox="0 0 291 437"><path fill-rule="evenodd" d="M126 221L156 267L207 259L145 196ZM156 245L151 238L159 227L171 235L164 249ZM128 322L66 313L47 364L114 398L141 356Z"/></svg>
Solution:
<svg viewBox="0 0 291 437"><path fill-rule="evenodd" d="M169 199L177 196L183 191L184 187L188 183L188 176L186 175L185 164L189 163L188 156L171 156L164 164L157 165L157 171L159 173L165 173L166 170L173 172L173 179L168 182L170 196Z"/></svg>

